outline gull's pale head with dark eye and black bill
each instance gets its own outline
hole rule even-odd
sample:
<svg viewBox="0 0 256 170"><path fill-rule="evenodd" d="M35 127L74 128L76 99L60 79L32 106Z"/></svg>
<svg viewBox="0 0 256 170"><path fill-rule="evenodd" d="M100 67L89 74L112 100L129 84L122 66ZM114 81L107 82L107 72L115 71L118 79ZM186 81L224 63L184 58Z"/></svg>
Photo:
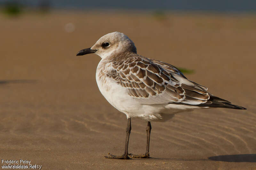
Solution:
<svg viewBox="0 0 256 170"><path fill-rule="evenodd" d="M100 37L91 48L82 49L76 55L95 53L101 58L106 58L124 52L137 53L137 50L132 40L124 33L113 32Z"/></svg>

